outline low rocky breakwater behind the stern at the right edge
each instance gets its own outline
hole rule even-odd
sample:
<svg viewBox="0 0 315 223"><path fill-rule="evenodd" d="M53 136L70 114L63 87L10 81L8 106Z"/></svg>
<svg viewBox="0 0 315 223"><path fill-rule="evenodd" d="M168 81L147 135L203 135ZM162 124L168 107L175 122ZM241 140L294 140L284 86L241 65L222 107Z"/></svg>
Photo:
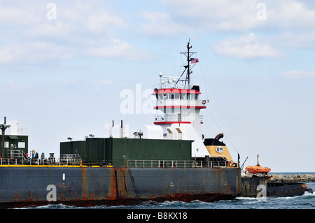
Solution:
<svg viewBox="0 0 315 223"><path fill-rule="evenodd" d="M315 174L272 174L267 182L315 182Z"/></svg>

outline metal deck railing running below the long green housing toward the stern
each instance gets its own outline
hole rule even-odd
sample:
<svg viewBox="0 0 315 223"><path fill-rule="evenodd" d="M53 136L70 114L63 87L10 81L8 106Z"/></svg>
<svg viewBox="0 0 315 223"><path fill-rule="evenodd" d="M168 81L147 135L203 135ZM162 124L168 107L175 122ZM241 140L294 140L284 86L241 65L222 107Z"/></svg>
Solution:
<svg viewBox="0 0 315 223"><path fill-rule="evenodd" d="M233 161L197 161L197 160L127 160L127 167L139 168L222 168L238 167Z"/></svg>

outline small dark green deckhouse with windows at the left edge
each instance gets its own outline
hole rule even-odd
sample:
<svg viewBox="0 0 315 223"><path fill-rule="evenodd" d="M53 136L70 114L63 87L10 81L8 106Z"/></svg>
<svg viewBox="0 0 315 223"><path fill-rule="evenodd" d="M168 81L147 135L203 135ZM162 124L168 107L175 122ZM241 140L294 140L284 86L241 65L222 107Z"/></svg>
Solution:
<svg viewBox="0 0 315 223"><path fill-rule="evenodd" d="M0 150L2 145L2 136L0 136ZM18 152L11 153L11 151L22 150L24 154L27 154L29 150L29 136L13 136L5 135L4 136L4 154L2 158L19 158L19 157L10 157L11 154L18 154ZM1 153L1 152L0 152ZM16 155L15 155L16 156Z"/></svg>

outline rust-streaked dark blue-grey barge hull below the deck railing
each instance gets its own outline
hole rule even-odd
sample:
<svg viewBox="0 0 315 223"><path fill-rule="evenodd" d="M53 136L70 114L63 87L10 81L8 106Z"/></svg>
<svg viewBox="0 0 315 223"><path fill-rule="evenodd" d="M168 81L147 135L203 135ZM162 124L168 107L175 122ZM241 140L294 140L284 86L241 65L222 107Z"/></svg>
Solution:
<svg viewBox="0 0 315 223"><path fill-rule="evenodd" d="M240 168L1 167L0 178L0 208L218 201L241 188Z"/></svg>

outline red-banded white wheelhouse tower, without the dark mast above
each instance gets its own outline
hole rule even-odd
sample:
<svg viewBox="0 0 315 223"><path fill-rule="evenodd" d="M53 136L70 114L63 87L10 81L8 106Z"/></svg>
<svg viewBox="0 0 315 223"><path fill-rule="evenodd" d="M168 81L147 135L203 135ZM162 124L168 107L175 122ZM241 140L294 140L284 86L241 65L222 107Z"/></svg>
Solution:
<svg viewBox="0 0 315 223"><path fill-rule="evenodd" d="M160 79L160 88L153 92L156 98L154 108L164 115L155 116L154 124L162 127L163 138L193 140L193 157L209 155L203 143L200 117L200 110L207 108L208 101L200 98L200 87L188 87L186 77L164 77L160 73Z"/></svg>

